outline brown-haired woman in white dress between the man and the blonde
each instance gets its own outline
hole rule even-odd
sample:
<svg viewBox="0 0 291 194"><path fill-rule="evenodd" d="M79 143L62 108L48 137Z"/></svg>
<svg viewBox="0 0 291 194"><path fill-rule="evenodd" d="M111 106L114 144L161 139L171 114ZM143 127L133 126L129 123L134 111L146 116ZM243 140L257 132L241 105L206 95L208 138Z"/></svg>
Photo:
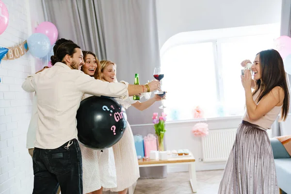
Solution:
<svg viewBox="0 0 291 194"><path fill-rule="evenodd" d="M100 63L96 55L83 51L84 65L81 71L95 79L100 79ZM84 94L82 99L92 95ZM116 170L113 148L101 151L80 144L83 166L83 193L102 194L103 188L116 187Z"/></svg>

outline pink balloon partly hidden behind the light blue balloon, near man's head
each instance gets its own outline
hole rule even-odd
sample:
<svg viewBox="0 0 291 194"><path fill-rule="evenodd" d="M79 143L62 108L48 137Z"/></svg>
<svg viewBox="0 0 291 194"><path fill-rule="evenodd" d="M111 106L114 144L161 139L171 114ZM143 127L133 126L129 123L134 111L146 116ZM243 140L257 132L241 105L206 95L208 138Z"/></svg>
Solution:
<svg viewBox="0 0 291 194"><path fill-rule="evenodd" d="M58 38L58 29L56 28L56 26L53 23L51 23L49 21L44 21L44 22L40 23L36 27L35 33L46 34L49 37L50 45L53 45Z"/></svg>

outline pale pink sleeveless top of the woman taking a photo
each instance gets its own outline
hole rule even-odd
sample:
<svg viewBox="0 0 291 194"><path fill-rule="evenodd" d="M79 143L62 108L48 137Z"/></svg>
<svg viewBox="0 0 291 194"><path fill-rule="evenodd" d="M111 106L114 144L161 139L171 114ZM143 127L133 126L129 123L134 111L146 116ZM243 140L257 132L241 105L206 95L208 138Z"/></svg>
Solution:
<svg viewBox="0 0 291 194"><path fill-rule="evenodd" d="M256 104L259 104L258 97L259 97L260 90L253 96L253 99ZM242 120L247 121L249 123L258 125L259 127L263 129L271 129L273 123L277 119L279 113L281 112L281 106L275 106L271 111L260 117L258 120L251 120L247 114L247 111L244 113Z"/></svg>

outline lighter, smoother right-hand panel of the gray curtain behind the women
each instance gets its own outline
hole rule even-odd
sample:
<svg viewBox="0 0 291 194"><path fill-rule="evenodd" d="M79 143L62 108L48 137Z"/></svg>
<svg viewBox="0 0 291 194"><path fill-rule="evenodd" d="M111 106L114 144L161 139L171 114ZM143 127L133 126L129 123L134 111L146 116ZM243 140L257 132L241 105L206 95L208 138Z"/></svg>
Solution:
<svg viewBox="0 0 291 194"><path fill-rule="evenodd" d="M160 65L155 0L101 0L104 14L106 56L117 65L117 78L133 83L139 73L140 83L153 80L155 66ZM151 123L152 113L161 113L157 102L141 112L127 110L131 125ZM134 135L154 134L153 126L131 127ZM165 137L166 138L166 137ZM166 166L142 167L141 178L164 178Z"/></svg>

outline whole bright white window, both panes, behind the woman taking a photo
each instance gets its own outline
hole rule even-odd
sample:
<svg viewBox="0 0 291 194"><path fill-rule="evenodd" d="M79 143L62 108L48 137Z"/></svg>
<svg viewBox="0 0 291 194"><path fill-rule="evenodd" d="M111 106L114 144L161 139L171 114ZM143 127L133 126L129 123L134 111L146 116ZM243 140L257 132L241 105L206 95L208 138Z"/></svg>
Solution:
<svg viewBox="0 0 291 194"><path fill-rule="evenodd" d="M162 88L167 91L164 111L168 119L193 119L196 106L201 107L206 118L243 115L240 63L245 59L253 61L260 50L273 48L273 41L279 36L279 26L275 27L276 30L274 26L258 26L257 31L246 34L242 34L242 28L236 29L237 33L220 29L220 33L213 32L217 37L200 32L201 39L197 32L183 32L170 38L161 49L165 74ZM211 34L209 38L207 34Z"/></svg>

